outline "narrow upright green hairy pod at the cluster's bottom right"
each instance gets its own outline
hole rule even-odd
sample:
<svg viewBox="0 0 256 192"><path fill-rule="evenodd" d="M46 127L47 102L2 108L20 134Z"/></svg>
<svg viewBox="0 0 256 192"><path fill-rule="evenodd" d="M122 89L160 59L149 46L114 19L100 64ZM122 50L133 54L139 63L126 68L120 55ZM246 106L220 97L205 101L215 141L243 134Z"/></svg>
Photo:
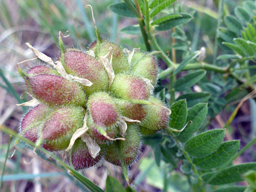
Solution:
<svg viewBox="0 0 256 192"><path fill-rule="evenodd" d="M121 152L121 160L124 165L131 165L137 160L141 145L140 133L133 125L129 125L126 131L126 140L118 141Z"/></svg>

